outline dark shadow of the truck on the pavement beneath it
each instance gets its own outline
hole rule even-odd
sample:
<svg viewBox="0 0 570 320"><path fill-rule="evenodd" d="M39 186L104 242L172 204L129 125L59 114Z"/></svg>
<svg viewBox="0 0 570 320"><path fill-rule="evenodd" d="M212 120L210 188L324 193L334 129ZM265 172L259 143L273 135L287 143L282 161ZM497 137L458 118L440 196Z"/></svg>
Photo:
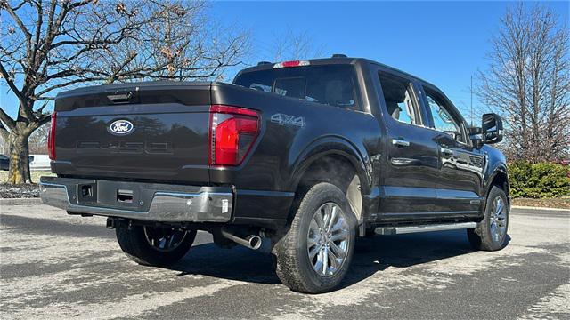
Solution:
<svg viewBox="0 0 570 320"><path fill-rule="evenodd" d="M341 288L357 284L387 268L409 268L473 252L464 230L398 236L358 238L351 269ZM170 269L180 276L213 276L256 284L281 284L273 271L272 257L236 246L198 244Z"/></svg>

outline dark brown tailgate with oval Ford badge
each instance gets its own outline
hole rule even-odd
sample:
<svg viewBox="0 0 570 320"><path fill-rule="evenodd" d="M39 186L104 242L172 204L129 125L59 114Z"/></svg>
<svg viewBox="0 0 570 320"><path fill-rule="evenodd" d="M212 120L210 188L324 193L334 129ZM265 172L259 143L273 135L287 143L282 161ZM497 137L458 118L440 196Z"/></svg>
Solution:
<svg viewBox="0 0 570 320"><path fill-rule="evenodd" d="M53 172L208 183L209 83L88 87L58 95Z"/></svg>

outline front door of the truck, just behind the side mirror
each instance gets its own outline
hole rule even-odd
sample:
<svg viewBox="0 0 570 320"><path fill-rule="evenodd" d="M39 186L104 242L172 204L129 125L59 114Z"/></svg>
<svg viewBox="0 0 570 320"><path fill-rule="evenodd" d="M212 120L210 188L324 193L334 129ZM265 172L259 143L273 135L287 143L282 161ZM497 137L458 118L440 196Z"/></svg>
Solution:
<svg viewBox="0 0 570 320"><path fill-rule="evenodd" d="M428 84L421 92L439 153L436 211L458 218L476 216L484 204L480 195L485 155L473 148L465 120L443 93Z"/></svg>

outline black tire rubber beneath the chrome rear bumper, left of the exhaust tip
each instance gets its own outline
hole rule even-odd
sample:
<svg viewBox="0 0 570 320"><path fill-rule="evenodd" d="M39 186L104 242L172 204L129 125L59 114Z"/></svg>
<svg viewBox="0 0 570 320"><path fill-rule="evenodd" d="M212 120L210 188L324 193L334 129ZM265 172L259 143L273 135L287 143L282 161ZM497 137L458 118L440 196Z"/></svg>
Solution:
<svg viewBox="0 0 570 320"><path fill-rule="evenodd" d="M146 229L145 229L146 228ZM151 240L147 240L147 236L155 233L154 236L174 234L178 240L172 248L159 249L151 245ZM117 240L123 252L126 253L131 260L144 266L166 267L172 265L190 250L196 230L173 230L172 228L151 228L142 226L132 226L131 228L117 228Z"/></svg>

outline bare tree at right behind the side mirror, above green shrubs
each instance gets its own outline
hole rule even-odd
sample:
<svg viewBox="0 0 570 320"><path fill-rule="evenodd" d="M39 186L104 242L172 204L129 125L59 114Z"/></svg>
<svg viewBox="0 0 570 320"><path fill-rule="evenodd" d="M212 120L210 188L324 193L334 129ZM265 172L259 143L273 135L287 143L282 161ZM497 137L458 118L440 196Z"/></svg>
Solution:
<svg viewBox="0 0 570 320"><path fill-rule="evenodd" d="M554 161L570 148L568 29L542 5L510 7L492 38L477 93L506 121L513 159Z"/></svg>

